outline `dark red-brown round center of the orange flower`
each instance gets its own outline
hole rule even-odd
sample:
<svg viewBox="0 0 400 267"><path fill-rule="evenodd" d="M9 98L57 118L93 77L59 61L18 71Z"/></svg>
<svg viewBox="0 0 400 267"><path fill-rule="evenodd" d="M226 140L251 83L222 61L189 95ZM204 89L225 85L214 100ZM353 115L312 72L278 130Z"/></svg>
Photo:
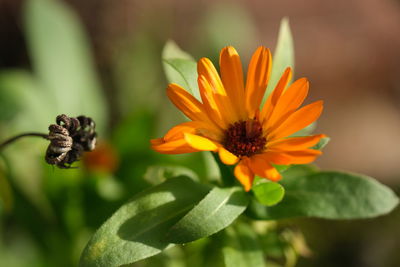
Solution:
<svg viewBox="0 0 400 267"><path fill-rule="evenodd" d="M262 152L267 139L262 135L262 126L256 119L238 121L225 131L223 146L232 154L250 157Z"/></svg>

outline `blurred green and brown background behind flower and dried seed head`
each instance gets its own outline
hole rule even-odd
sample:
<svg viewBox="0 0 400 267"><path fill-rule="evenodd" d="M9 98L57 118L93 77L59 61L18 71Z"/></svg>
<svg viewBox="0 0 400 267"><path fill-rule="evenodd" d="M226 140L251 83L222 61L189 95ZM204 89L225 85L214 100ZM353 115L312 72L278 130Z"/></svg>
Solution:
<svg viewBox="0 0 400 267"><path fill-rule="evenodd" d="M331 142L317 164L400 192L398 0L53 0L46 8L37 1L0 0L0 137L46 131L58 113L87 111L101 143L67 172L42 163L40 140L7 148L0 266L75 265L92 231L148 186L149 166L182 164L212 176L198 155L149 150L148 139L182 118L165 95L163 46L172 39L194 58L217 62L220 49L233 45L248 62L259 45L273 50L285 16L295 76L310 80L309 101L325 101L316 132ZM298 266L395 267L399 222L397 209L373 220L287 223L298 225L313 251Z"/></svg>

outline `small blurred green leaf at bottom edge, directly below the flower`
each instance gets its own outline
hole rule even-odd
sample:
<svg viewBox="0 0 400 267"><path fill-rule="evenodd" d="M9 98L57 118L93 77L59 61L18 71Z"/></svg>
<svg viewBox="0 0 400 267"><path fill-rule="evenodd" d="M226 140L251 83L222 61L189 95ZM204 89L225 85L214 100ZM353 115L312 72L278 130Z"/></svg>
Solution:
<svg viewBox="0 0 400 267"><path fill-rule="evenodd" d="M226 267L265 266L263 250L254 230L240 223L226 229L226 245L222 249Z"/></svg>

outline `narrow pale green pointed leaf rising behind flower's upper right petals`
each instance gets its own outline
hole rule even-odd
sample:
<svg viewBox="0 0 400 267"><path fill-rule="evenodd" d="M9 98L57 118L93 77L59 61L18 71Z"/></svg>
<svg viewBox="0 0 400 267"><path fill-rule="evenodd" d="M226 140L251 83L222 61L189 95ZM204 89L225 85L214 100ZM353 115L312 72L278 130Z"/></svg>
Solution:
<svg viewBox="0 0 400 267"><path fill-rule="evenodd" d="M275 86L281 78L285 69L287 67L291 67L292 71L294 70L294 45L288 18L283 18L281 20L278 41L272 60L273 65L271 70L271 77L268 82L264 101L266 97L275 89Z"/></svg>

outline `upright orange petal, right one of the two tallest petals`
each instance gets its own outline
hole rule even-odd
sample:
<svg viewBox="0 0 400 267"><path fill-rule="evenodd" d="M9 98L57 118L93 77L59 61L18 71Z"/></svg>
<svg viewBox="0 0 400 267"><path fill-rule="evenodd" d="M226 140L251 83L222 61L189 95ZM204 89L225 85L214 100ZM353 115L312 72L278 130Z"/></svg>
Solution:
<svg viewBox="0 0 400 267"><path fill-rule="evenodd" d="M254 117L264 97L271 73L271 62L271 52L263 46L254 52L250 60L245 89L246 109L250 118Z"/></svg>

